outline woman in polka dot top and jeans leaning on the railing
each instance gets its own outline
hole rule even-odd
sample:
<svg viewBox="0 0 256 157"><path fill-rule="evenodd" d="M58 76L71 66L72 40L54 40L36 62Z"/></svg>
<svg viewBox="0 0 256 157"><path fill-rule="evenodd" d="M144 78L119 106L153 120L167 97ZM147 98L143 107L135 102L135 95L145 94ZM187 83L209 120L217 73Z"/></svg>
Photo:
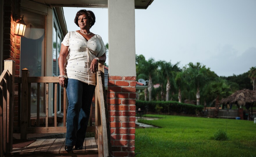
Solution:
<svg viewBox="0 0 256 157"><path fill-rule="evenodd" d="M92 11L79 10L74 22L80 30L68 32L58 58L59 83L68 98L65 150L83 149L90 107L96 86L98 62L106 61L106 47L99 35L90 32L95 23ZM67 59L67 60L66 60Z"/></svg>

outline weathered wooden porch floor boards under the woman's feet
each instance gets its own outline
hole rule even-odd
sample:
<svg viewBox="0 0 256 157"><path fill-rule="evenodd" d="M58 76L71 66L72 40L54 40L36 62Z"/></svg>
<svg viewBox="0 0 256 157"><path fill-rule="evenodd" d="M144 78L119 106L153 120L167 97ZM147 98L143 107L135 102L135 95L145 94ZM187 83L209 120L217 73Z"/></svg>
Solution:
<svg viewBox="0 0 256 157"><path fill-rule="evenodd" d="M13 148L5 156L98 156L94 137L86 138L82 150L65 151L65 138L37 139L24 148ZM86 148L86 149L85 149Z"/></svg>

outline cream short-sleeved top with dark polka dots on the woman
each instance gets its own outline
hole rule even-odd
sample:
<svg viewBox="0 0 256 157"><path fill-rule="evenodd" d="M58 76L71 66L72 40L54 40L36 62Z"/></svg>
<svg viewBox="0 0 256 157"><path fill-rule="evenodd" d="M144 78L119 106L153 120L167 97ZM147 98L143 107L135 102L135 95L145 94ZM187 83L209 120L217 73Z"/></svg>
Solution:
<svg viewBox="0 0 256 157"><path fill-rule="evenodd" d="M96 74L91 73L89 68L95 57L100 57L106 52L101 36L95 34L86 41L81 34L72 31L67 33L62 44L69 46L65 63L67 77L96 85Z"/></svg>

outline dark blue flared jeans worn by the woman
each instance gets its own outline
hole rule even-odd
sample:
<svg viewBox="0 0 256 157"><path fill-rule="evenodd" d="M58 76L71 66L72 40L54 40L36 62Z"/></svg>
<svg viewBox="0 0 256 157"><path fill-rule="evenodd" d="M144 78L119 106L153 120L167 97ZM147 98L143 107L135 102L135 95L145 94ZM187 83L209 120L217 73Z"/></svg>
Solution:
<svg viewBox="0 0 256 157"><path fill-rule="evenodd" d="M69 78L66 82L67 108L67 146L83 145L86 128L90 118L95 86Z"/></svg>

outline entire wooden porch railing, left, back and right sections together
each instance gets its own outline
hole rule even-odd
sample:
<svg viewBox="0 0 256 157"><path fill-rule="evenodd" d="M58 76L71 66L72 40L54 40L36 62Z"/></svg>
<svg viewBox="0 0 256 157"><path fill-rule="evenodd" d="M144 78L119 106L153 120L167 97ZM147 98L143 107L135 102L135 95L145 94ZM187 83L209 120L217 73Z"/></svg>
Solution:
<svg viewBox="0 0 256 157"><path fill-rule="evenodd" d="M13 64L14 71L14 64ZM13 72L12 71L12 72ZM97 86L95 88L95 126L92 125L92 114L90 114L90 126L86 132L95 132L95 139L98 139L99 156L109 156L111 153L109 122L107 115L106 96L104 83L104 65L99 63L99 71L97 72ZM1 74L1 102L0 106L0 149L1 154L12 150L12 130L13 133L20 133L21 139L27 139L27 134L47 134L47 133L65 133L66 132L66 90L63 92L63 126L57 126L57 86L59 83L58 77L29 77L29 70L22 69L22 77L11 75L8 70L4 70ZM18 84L18 126L13 127L13 95L14 83ZM31 83L37 83L37 123L36 127L31 127ZM40 125L40 83L45 88L45 127ZM49 83L53 83L54 88L54 126L49 126ZM7 92L5 92L7 91ZM12 99L10 101L10 98ZM3 100L2 100L3 99ZM6 111L8 110L8 111ZM92 113L92 107L91 107ZM29 115L29 116L28 116ZM8 126L8 127L6 127ZM3 138L4 137L4 138ZM109 147L110 145L110 147ZM3 150L3 151L2 151ZM0 154L0 156L1 156Z"/></svg>

